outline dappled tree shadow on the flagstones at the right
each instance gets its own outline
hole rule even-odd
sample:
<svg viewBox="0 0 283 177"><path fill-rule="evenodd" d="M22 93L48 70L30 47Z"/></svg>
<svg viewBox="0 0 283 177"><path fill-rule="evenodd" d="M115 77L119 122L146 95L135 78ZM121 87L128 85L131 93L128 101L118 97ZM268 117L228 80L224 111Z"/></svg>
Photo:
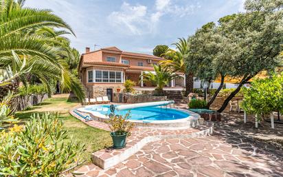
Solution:
<svg viewBox="0 0 283 177"><path fill-rule="evenodd" d="M282 124L275 124L271 129L270 123L262 122L255 127L253 117L244 123L243 114L229 112L222 114L222 120L214 125L214 136L232 145L251 152L254 156L265 154L274 161L283 161Z"/></svg>

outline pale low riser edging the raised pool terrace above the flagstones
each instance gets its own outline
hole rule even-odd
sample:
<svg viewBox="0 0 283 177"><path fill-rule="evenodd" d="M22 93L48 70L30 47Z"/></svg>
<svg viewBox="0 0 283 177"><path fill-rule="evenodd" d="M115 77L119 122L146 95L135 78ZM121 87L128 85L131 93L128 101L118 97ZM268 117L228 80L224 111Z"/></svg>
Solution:
<svg viewBox="0 0 283 177"><path fill-rule="evenodd" d="M157 135L157 136L147 136L139 140L139 142L129 147L128 149L124 149L124 151L120 152L120 154L116 154L115 156L108 156L107 158L104 159L104 158L100 158L100 156L97 155L100 154L99 151L91 155L91 160L98 167L102 169L109 169L110 167L113 167L118 163L121 163L127 158L131 157L133 154L136 154L142 147L144 147L148 143L162 139L171 139L171 138L199 138L212 134L213 130L214 130L214 126L211 125L207 129L201 130L199 132L192 132L191 134L165 134L165 135Z"/></svg>

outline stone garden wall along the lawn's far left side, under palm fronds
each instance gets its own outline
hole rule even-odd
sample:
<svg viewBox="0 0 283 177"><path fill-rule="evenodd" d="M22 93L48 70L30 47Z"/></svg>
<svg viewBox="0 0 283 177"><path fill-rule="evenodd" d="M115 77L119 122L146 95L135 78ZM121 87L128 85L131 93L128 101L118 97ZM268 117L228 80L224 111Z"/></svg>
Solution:
<svg viewBox="0 0 283 177"><path fill-rule="evenodd" d="M16 111L21 111L21 110L25 110L25 108L30 107L32 105L38 105L46 98L48 98L48 94L16 96L16 98L14 98L14 105L16 107Z"/></svg>

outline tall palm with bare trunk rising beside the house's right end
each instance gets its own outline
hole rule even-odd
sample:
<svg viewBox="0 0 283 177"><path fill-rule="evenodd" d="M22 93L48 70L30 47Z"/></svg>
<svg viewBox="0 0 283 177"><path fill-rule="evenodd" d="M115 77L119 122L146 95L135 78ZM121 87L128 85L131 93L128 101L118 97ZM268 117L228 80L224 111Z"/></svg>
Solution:
<svg viewBox="0 0 283 177"><path fill-rule="evenodd" d="M185 61L190 52L188 39L179 38L177 43L173 43L177 50L168 50L164 54L166 61L161 61L161 65L170 68L172 72L181 72L185 74L185 95L193 92L194 75L188 71L187 62Z"/></svg>

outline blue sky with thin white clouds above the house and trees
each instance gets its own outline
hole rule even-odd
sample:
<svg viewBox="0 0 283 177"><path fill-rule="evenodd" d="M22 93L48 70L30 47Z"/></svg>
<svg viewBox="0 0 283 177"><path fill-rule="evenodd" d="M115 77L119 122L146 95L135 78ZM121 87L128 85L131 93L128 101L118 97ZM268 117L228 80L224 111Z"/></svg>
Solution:
<svg viewBox="0 0 283 177"><path fill-rule="evenodd" d="M26 7L49 9L66 21L83 53L116 46L152 54L156 45L188 37L205 23L243 11L244 0L27 0Z"/></svg>

